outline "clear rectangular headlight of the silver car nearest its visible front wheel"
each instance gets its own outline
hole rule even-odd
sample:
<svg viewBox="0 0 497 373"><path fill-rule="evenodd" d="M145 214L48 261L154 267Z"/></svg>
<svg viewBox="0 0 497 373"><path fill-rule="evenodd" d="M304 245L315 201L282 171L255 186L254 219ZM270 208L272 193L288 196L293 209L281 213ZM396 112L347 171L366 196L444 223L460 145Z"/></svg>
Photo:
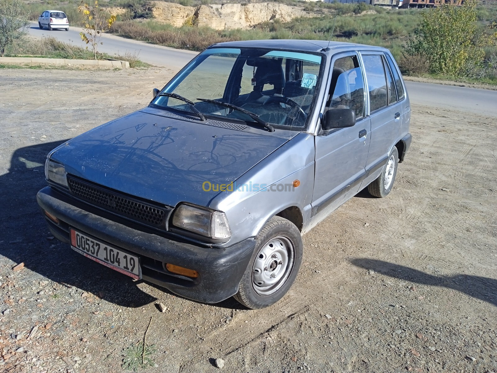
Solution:
<svg viewBox="0 0 497 373"><path fill-rule="evenodd" d="M172 224L202 236L224 239L231 236L226 214L207 208L181 204L174 212Z"/></svg>

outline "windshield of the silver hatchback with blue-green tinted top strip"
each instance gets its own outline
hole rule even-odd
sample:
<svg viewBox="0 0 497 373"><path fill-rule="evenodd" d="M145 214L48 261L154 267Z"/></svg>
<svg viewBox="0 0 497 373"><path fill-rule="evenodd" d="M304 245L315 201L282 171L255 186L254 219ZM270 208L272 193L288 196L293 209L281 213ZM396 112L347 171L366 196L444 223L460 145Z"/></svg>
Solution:
<svg viewBox="0 0 497 373"><path fill-rule="evenodd" d="M302 52L267 49L210 48L201 53L163 93L176 93L194 102L205 115L253 122L239 106L265 122L303 129L314 101L322 58ZM153 105L190 111L185 102L157 96Z"/></svg>

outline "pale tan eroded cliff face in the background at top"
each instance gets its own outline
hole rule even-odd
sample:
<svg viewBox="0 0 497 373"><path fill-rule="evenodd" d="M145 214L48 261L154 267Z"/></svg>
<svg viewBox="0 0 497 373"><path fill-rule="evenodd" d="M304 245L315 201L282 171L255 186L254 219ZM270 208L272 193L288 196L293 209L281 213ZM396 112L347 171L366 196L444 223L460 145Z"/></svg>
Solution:
<svg viewBox="0 0 497 373"><path fill-rule="evenodd" d="M154 19L175 27L184 24L209 26L216 30L225 28L249 28L256 24L279 19L283 22L295 17L310 16L302 8L275 2L248 4L213 4L197 7L183 6L174 2L152 1L150 3ZM113 14L124 13L124 8L108 8Z"/></svg>

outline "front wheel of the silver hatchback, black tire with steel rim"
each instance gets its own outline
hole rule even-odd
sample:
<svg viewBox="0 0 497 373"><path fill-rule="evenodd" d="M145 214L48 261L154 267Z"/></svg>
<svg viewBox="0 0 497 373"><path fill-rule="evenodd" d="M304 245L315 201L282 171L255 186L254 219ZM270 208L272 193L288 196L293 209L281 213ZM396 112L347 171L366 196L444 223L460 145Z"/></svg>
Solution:
<svg viewBox="0 0 497 373"><path fill-rule="evenodd" d="M284 266L284 268L283 266L277 267L278 265L280 265L280 263L277 263L275 267L272 267L273 263L277 262L277 260L272 260L269 265L269 269L268 267L264 268L263 275L265 276L266 274L271 273L269 276L271 277L272 274L278 273L278 276L280 276L279 273L283 271L283 274L281 275L282 277L276 284L272 286L259 287L254 283L255 279L252 276L257 276L254 275L254 271L257 270L255 266L263 262L263 260L260 259L262 257L259 257L259 255L262 255L263 250L274 250L267 249L268 247L272 248L271 245L273 244L271 243L271 241L279 242L280 245L283 242L285 243L285 245L276 247L276 249L278 250L275 250L271 257L266 256L266 261L271 261L271 258L274 259L273 255L276 255L275 253L277 251L287 251L287 265ZM300 231L295 226L295 224L280 216L274 216L267 222L264 228L262 228L259 234L255 237L255 242L256 245L254 253L247 269L245 270L244 276L240 281L238 293L234 295L234 298L236 300L250 309L270 306L271 304L276 303L283 297L283 295L286 294L290 286L292 286L293 281L297 277L300 265L302 263L303 252L302 236L300 234ZM270 293L270 291L274 292ZM261 292L266 293L262 294Z"/></svg>

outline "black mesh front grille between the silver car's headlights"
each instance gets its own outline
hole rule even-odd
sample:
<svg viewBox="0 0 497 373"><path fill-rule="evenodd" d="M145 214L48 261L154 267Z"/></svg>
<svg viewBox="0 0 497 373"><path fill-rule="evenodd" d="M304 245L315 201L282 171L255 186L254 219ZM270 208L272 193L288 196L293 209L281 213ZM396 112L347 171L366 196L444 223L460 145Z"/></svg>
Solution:
<svg viewBox="0 0 497 373"><path fill-rule="evenodd" d="M118 195L100 187L94 187L80 180L68 178L71 192L97 206L118 212L133 219L161 225L166 216L165 210Z"/></svg>

